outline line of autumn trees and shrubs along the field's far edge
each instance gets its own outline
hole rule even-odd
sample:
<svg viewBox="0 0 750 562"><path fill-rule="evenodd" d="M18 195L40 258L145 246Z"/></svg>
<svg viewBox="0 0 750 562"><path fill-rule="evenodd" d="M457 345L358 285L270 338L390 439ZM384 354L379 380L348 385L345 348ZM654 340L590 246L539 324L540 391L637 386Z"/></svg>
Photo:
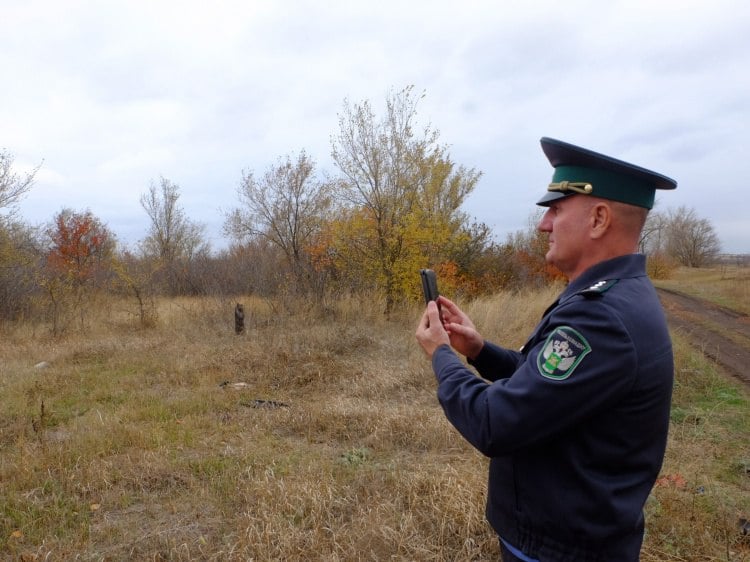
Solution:
<svg viewBox="0 0 750 562"><path fill-rule="evenodd" d="M481 172L454 162L439 133L417 121L422 95L391 92L382 115L369 101L344 100L331 138L338 173L318 171L304 150L263 172L246 170L237 206L225 216L227 249L212 252L205 228L186 216L180 188L152 181L140 204L149 218L135 249L121 247L88 210L62 209L34 228L16 204L33 186L0 152L0 321L39 318L59 333L79 324L101 295L137 304L142 325L155 321L160 295L255 294L311 297L343 293L382 298L384 312L419 298L416 271L438 272L441 290L466 297L540 285L560 278L547 266L546 236L526 229L493 238L462 205ZM652 212L641 249L663 275L675 265L700 267L720 251L706 219L681 207Z"/></svg>

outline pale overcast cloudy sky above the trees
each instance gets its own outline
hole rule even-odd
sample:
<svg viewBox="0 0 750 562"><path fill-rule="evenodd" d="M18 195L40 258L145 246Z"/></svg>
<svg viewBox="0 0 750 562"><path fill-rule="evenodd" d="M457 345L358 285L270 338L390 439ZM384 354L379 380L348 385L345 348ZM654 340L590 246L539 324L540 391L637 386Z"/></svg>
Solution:
<svg viewBox="0 0 750 562"><path fill-rule="evenodd" d="M91 210L120 241L165 177L214 248L243 170L305 150L335 173L344 99L407 85L419 121L483 173L465 210L526 228L555 137L677 180L724 251L750 252L747 0L0 0L0 147L43 161L32 224Z"/></svg>

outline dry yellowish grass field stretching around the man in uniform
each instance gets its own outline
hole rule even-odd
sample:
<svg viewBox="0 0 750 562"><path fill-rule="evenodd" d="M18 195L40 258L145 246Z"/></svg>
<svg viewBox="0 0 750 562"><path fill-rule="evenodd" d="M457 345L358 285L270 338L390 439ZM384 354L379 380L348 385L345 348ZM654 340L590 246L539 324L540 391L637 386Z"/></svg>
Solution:
<svg viewBox="0 0 750 562"><path fill-rule="evenodd" d="M465 308L517 347L556 294ZM1 334L0 557L497 560L487 462L443 418L420 309L240 300L242 335L210 298L160 302L146 330L105 301L85 333ZM748 561L750 395L675 344L642 559Z"/></svg>

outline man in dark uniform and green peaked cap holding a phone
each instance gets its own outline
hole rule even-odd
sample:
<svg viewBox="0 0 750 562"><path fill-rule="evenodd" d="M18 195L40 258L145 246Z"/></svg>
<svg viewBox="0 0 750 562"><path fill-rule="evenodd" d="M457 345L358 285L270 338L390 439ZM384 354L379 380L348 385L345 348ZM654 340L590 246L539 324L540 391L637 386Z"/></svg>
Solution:
<svg viewBox="0 0 750 562"><path fill-rule="evenodd" d="M677 184L555 139L541 144L555 171L538 228L567 288L520 351L485 341L442 296L416 337L446 417L491 459L486 514L503 559L633 562L674 370L638 242L655 190Z"/></svg>

